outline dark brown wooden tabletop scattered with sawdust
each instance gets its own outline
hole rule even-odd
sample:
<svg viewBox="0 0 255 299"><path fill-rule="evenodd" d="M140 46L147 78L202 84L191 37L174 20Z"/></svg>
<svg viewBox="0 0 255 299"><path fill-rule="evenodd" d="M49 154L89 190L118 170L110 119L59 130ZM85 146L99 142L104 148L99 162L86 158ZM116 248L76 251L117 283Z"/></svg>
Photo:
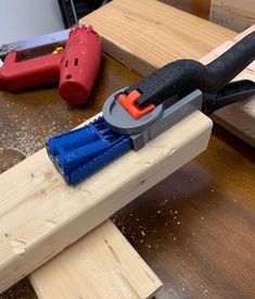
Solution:
<svg viewBox="0 0 255 299"><path fill-rule="evenodd" d="M68 108L53 87L1 92L0 172L95 114L107 95L138 78L105 55L100 84L82 108ZM254 150L215 126L205 153L113 216L163 281L166 298L254 296ZM12 298L23 291L24 285L12 288Z"/></svg>

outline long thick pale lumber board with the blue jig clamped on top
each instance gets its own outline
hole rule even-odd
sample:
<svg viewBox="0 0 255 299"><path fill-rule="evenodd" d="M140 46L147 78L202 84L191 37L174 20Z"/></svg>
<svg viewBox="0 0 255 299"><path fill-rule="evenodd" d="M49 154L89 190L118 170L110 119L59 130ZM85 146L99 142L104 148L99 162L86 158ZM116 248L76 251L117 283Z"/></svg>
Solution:
<svg viewBox="0 0 255 299"><path fill-rule="evenodd" d="M0 175L0 291L206 149L212 121L196 111L76 188L41 150Z"/></svg>

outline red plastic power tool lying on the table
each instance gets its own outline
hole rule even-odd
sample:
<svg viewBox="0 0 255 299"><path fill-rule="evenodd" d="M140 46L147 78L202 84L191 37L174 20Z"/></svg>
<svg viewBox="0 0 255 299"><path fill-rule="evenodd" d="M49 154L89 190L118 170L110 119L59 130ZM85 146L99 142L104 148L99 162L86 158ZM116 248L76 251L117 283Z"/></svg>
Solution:
<svg viewBox="0 0 255 299"><path fill-rule="evenodd" d="M102 54L99 35L86 26L69 33L65 49L26 61L8 53L0 68L0 89L16 91L60 80L59 92L71 104L84 103L91 92Z"/></svg>

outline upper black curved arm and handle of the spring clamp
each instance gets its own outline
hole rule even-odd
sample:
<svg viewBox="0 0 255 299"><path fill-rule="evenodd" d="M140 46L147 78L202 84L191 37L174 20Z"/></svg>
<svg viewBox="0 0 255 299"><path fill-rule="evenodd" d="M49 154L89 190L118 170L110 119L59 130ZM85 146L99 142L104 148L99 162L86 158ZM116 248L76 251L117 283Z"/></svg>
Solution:
<svg viewBox="0 0 255 299"><path fill-rule="evenodd" d="M158 105L173 98L173 103L195 89L217 94L255 59L255 32L237 42L213 62L204 65L194 60L166 64L125 90L138 90L140 108Z"/></svg>

